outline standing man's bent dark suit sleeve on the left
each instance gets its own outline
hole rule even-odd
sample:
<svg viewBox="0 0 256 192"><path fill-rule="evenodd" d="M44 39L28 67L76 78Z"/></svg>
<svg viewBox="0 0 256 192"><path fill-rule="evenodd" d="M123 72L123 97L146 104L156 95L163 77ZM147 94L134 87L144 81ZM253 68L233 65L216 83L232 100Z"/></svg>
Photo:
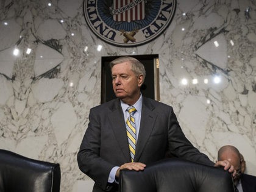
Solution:
<svg viewBox="0 0 256 192"><path fill-rule="evenodd" d="M97 111L90 110L88 128L77 154L79 169L94 180L98 187L106 190L109 187L108 176L114 167L100 157L101 121Z"/></svg>

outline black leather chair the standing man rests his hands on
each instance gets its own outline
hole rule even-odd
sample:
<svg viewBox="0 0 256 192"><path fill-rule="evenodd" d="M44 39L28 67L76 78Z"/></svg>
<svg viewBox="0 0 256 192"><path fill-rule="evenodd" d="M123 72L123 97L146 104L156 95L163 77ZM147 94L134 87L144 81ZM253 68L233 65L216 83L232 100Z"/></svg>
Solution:
<svg viewBox="0 0 256 192"><path fill-rule="evenodd" d="M222 168L177 159L120 171L119 192L234 192L232 175Z"/></svg>

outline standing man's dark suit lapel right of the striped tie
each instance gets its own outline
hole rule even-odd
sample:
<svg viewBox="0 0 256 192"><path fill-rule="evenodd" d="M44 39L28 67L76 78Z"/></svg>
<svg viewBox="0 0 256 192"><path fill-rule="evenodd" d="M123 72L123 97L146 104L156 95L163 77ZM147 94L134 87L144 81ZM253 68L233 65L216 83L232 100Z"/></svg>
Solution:
<svg viewBox="0 0 256 192"><path fill-rule="evenodd" d="M143 98L142 110L141 110L141 121L140 121L140 132L138 135L138 141L136 144L136 152L134 161L139 162L144 147L151 135L152 129L155 124L157 115L152 112L154 106L148 102L148 99Z"/></svg>

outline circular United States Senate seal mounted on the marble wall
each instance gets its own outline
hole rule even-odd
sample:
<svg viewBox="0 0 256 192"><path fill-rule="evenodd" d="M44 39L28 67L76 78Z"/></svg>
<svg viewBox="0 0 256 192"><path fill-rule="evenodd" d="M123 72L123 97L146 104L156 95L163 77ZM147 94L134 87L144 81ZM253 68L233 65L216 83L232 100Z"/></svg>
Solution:
<svg viewBox="0 0 256 192"><path fill-rule="evenodd" d="M84 0L91 31L107 43L133 47L148 43L169 26L176 0Z"/></svg>

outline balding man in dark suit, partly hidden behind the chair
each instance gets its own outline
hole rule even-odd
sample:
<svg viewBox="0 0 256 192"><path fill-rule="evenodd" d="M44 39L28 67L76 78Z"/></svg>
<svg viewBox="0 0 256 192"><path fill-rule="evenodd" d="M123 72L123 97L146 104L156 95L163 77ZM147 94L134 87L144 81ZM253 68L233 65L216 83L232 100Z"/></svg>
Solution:
<svg viewBox="0 0 256 192"><path fill-rule="evenodd" d="M218 151L218 160L229 160L236 169L234 185L239 192L256 192L256 177L241 173L241 154L231 145L222 146Z"/></svg>

